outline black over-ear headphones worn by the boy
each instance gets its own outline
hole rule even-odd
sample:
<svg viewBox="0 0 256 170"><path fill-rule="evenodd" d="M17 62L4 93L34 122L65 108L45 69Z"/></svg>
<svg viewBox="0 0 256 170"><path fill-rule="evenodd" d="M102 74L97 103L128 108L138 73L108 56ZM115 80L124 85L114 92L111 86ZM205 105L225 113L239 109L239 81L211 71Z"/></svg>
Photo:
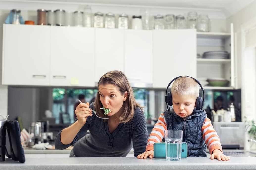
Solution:
<svg viewBox="0 0 256 170"><path fill-rule="evenodd" d="M173 97L172 97L172 91L170 91L168 94L167 94L167 90L168 88L170 87L170 85L172 84L172 82L174 82L176 79L178 79L179 77L190 77L190 76L178 76L176 78L174 78L167 86L166 88L166 92L165 92L165 102L166 102L166 106L167 106L167 109L168 111L170 111L170 108L169 106L172 106L173 105ZM198 80L196 80L195 78L193 77L190 77L192 78L193 80L195 80L197 82L197 84L199 84L199 86L201 87L202 91L203 91L203 98L201 97L197 97L196 98L196 110L200 110L204 107L204 100L205 100L205 92L204 92L204 89L202 87L202 85L199 83Z"/></svg>

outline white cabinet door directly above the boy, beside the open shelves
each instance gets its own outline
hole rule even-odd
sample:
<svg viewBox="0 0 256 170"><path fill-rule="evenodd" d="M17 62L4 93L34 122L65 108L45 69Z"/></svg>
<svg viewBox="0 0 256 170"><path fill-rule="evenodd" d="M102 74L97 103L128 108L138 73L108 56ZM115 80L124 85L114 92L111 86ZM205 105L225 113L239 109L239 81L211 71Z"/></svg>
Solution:
<svg viewBox="0 0 256 170"><path fill-rule="evenodd" d="M196 78L196 30L153 30L153 87L182 75Z"/></svg>

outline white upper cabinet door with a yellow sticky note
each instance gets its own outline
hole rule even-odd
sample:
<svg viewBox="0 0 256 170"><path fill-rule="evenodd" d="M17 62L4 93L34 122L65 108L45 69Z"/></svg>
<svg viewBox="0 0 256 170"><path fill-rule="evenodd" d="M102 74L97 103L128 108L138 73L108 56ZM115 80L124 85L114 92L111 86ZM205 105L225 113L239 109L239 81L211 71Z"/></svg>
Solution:
<svg viewBox="0 0 256 170"><path fill-rule="evenodd" d="M51 28L50 85L94 86L94 28Z"/></svg>

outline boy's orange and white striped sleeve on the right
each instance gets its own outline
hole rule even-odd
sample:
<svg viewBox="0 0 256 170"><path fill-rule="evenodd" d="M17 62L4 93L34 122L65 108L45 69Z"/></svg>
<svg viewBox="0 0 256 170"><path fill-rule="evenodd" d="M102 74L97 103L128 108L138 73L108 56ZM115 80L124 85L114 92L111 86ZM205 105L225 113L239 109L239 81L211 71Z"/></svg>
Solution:
<svg viewBox="0 0 256 170"><path fill-rule="evenodd" d="M220 138L217 132L212 127L210 119L208 119L207 117L202 127L202 136L205 140L207 147L209 148L210 154L212 154L212 151L215 149L219 149L222 152Z"/></svg>

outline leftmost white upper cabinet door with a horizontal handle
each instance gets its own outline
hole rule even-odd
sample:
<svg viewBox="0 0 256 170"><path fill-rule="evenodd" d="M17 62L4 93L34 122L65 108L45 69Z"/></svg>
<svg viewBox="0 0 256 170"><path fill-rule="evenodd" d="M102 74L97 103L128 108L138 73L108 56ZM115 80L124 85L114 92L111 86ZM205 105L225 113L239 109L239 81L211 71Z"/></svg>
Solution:
<svg viewBox="0 0 256 170"><path fill-rule="evenodd" d="M4 24L2 69L2 84L49 85L50 27Z"/></svg>

